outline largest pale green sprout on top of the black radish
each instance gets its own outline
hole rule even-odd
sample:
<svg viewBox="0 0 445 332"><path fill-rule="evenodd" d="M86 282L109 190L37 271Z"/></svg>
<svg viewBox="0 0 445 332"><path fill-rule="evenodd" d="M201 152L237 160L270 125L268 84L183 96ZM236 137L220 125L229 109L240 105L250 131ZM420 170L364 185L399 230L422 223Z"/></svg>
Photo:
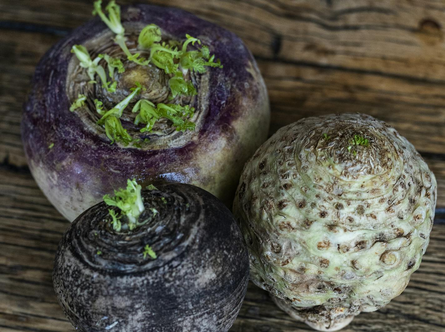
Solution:
<svg viewBox="0 0 445 332"><path fill-rule="evenodd" d="M121 210L121 214L128 219L128 227L133 230L138 225L139 215L145 210L141 197L142 187L138 185L136 180L127 180L126 189L114 190L114 197L108 194L104 196L104 202L110 206L117 206ZM109 213L113 218L112 213ZM116 218L113 218L113 228Z"/></svg>

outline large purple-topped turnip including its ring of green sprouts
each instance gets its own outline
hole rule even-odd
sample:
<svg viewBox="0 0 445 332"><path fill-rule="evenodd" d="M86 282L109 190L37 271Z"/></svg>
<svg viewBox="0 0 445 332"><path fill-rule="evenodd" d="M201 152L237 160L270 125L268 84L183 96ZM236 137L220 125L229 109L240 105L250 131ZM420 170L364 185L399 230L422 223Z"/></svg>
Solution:
<svg viewBox="0 0 445 332"><path fill-rule="evenodd" d="M70 221L127 178L230 204L270 119L251 53L179 9L97 1L95 13L36 68L21 130L41 190Z"/></svg>

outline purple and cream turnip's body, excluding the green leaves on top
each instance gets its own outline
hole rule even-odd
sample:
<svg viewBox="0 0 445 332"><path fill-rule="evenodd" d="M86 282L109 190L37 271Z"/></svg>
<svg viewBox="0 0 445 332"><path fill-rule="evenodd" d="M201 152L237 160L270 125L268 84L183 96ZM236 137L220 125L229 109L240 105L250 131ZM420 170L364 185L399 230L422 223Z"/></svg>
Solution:
<svg viewBox="0 0 445 332"><path fill-rule="evenodd" d="M189 74L198 95L170 100L169 76L154 65L127 61L99 17L77 28L42 58L24 107L22 140L40 189L70 221L127 178L142 186L190 183L231 204L243 165L266 140L270 121L267 91L250 51L232 32L175 8L123 6L121 21L133 53L149 56L136 49L138 33L147 24L157 24L165 41L183 41L186 34L199 38L223 68ZM92 59L99 53L122 59L125 72L114 73L116 93L87 83L85 70L70 53L73 45L84 45ZM103 60L100 64L106 67ZM121 121L132 137L141 139L141 147L110 144L104 128L96 124L100 115L93 101L97 98L110 109L130 93L135 81L147 90L134 97ZM79 93L86 95L86 107L70 112ZM195 130L176 131L169 120L160 119L152 133L140 133L131 113L140 98L193 106Z"/></svg>

